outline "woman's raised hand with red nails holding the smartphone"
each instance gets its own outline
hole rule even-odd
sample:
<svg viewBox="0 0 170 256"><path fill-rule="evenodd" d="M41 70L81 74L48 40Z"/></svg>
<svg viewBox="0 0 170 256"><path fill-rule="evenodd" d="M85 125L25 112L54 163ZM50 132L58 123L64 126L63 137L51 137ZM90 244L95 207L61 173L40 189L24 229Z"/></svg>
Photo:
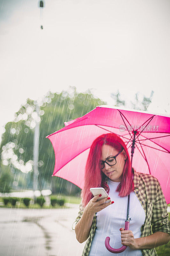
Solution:
<svg viewBox="0 0 170 256"><path fill-rule="evenodd" d="M100 194L101 195L101 194ZM108 203L105 203L107 200L110 199L110 197L106 197L106 198L103 198L99 201L97 201L97 199L100 198L100 195L97 195L97 196L94 196L89 202L88 204L86 205L86 208L88 209L88 212L90 213L95 213L95 212L100 212L101 210L103 210L104 208L106 208L108 205L110 204L113 204L114 201L110 201Z"/></svg>

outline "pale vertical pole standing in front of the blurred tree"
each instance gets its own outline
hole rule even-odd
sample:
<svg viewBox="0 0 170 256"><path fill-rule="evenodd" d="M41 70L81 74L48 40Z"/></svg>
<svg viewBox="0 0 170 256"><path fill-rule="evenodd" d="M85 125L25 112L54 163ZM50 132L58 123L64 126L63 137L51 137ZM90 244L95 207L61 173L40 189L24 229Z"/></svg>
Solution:
<svg viewBox="0 0 170 256"><path fill-rule="evenodd" d="M39 106L35 104L37 116L39 116ZM38 188L38 157L39 157L39 137L40 137L40 124L37 120L35 120L35 128L34 128L34 143L33 143L33 196L34 203L36 201L35 190Z"/></svg>

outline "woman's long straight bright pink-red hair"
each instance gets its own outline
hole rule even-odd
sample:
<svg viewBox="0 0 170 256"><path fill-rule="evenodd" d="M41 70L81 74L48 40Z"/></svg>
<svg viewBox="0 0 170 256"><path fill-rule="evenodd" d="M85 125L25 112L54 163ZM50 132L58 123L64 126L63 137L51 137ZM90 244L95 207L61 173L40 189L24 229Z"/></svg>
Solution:
<svg viewBox="0 0 170 256"><path fill-rule="evenodd" d="M123 140L115 133L102 134L97 137L91 145L90 152L85 166L85 184L81 191L82 204L85 207L93 195L90 188L104 188L109 193L109 187L106 183L107 176L101 171L99 162L101 159L102 145L110 145L121 151L123 148L127 154L122 172L122 179L116 189L119 196L128 196L134 190L133 173L131 172L131 161L128 150Z"/></svg>

